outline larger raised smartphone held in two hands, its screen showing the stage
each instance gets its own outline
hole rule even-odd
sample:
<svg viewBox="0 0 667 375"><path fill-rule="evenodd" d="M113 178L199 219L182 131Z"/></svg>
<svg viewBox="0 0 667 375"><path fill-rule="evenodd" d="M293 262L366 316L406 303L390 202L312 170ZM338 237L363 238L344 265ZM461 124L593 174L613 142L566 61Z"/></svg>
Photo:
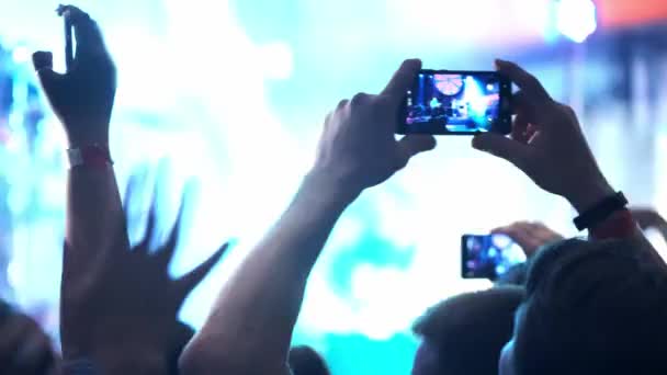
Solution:
<svg viewBox="0 0 667 375"><path fill-rule="evenodd" d="M398 134L511 132L511 81L497 71L420 70L398 113Z"/></svg>

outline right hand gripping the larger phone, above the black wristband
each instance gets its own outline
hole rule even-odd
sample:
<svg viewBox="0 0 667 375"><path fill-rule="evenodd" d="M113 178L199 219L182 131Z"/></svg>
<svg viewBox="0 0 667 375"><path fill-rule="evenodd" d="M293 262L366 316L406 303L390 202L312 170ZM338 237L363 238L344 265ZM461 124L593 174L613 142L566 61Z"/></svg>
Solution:
<svg viewBox="0 0 667 375"><path fill-rule="evenodd" d="M574 111L554 101L540 81L519 66L498 60L497 68L520 88L513 96L517 116L511 138L484 134L473 139L473 147L510 161L540 188L564 196L579 212L612 194Z"/></svg>

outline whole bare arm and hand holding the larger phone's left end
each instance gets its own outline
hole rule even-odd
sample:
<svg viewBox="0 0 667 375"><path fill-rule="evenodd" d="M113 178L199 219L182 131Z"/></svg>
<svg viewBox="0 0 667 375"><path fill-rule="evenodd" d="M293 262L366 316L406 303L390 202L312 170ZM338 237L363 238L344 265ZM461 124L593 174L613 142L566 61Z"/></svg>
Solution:
<svg viewBox="0 0 667 375"><path fill-rule="evenodd" d="M431 136L394 136L398 105L419 67L405 61L380 95L358 94L327 116L313 169L221 289L181 356L182 374L291 373L287 353L306 282L336 221L364 189L436 146Z"/></svg>

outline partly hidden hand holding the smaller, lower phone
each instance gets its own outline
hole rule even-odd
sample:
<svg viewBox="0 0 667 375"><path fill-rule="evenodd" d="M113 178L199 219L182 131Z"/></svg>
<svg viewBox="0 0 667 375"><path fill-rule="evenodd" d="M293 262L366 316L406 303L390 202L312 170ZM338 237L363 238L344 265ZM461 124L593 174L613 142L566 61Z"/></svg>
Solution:
<svg viewBox="0 0 667 375"><path fill-rule="evenodd" d="M542 223L517 221L496 228L491 234L506 235L511 238L523 249L525 257L529 259L540 248L563 240L563 236L551 230Z"/></svg>

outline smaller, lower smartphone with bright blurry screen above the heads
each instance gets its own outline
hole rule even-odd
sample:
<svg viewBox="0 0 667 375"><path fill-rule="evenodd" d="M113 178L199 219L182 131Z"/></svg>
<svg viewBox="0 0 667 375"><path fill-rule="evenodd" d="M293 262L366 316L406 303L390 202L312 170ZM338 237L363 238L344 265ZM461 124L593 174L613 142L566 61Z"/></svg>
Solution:
<svg viewBox="0 0 667 375"><path fill-rule="evenodd" d="M464 235L461 239L463 279L496 281L512 266L525 262L523 249L505 235Z"/></svg>

